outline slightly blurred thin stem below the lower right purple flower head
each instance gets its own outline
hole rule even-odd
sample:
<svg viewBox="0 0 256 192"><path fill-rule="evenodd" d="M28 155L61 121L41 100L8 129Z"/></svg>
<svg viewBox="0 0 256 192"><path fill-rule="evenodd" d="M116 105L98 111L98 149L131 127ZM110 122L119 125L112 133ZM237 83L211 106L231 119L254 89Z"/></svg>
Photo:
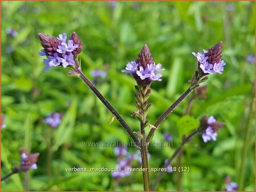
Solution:
<svg viewBox="0 0 256 192"><path fill-rule="evenodd" d="M182 149L182 147L184 146L185 143L187 143L191 138L192 136L194 136L195 134L197 134L199 132L199 129L196 129L195 131L193 131L191 134L189 134L184 140L183 142L181 143L180 147L178 147L176 149L176 151L174 152L174 154L172 154L172 156L170 157L170 159L168 159L168 161L166 162L166 164L164 164L164 167L163 168L167 168L168 165L171 164L172 160L174 160L174 158L179 154L180 150ZM162 180L163 176L164 176L164 173L166 172L160 172L158 177L156 177L156 180L155 180L155 183L152 187L152 190L154 191L156 186L158 186L159 182Z"/></svg>

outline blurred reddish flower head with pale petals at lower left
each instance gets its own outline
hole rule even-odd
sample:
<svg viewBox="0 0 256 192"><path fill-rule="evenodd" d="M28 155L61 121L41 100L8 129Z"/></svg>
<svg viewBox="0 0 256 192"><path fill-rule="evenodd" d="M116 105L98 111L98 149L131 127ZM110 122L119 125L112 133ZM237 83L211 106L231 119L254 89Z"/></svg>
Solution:
<svg viewBox="0 0 256 192"><path fill-rule="evenodd" d="M39 153L28 153L24 148L20 149L20 170L26 172L28 169L37 169L36 161L38 160Z"/></svg>

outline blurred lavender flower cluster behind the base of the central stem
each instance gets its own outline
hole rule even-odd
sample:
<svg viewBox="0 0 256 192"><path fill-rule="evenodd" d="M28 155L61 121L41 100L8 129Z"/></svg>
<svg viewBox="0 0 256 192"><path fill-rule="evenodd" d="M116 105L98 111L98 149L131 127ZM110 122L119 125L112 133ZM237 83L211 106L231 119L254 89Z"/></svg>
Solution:
<svg viewBox="0 0 256 192"><path fill-rule="evenodd" d="M141 152L139 150L137 150L134 154L130 154L127 151L127 147L121 146L114 148L114 154L118 157L117 165L115 165L115 168L121 167L121 171L114 171L112 173L112 177L114 178L129 176L131 174L130 168L133 161L138 161L139 163L142 163ZM147 153L147 157L148 159L150 158L150 153Z"/></svg>

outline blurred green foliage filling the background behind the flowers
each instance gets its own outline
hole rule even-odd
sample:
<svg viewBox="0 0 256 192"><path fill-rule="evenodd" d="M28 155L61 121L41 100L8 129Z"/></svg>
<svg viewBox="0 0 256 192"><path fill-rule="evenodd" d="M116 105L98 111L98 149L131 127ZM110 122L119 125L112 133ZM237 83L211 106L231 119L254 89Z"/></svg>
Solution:
<svg viewBox="0 0 256 192"><path fill-rule="evenodd" d="M142 173L133 172L114 186L110 172L66 172L65 168L114 168L114 147L83 147L82 142L128 142L129 135L78 78L68 69L53 67L44 72L38 33L58 36L76 31L83 42L82 70L101 69L108 77L96 87L118 110L134 131L139 122L135 110L135 80L121 73L137 58L144 44L156 63L162 63L163 81L152 84L151 123L188 88L197 68L191 52L203 52L223 41L226 62L222 75L209 75L206 100L195 100L191 118L213 115L225 126L216 142L203 143L196 135L184 147L181 190L225 190L225 177L240 190L254 191L254 63L246 57L255 52L254 2L1 2L1 174L19 166L19 148L39 152L38 169L30 170L30 190L142 190ZM6 34L12 28L18 36ZM191 97L191 95L189 96ZM189 98L175 109L154 135L172 147L150 147L150 167L161 167L181 142L185 129L180 119ZM252 107L250 109L250 107ZM49 159L49 126L43 122L52 112L64 115L54 130L53 155ZM181 127L182 128L182 127ZM148 128L149 129L149 128ZM129 147L130 153L135 147ZM177 166L175 160L172 166ZM139 167L139 165L134 165ZM158 173L150 173L151 182ZM177 172L166 174L156 190L177 190ZM24 173L2 182L3 191L24 190Z"/></svg>

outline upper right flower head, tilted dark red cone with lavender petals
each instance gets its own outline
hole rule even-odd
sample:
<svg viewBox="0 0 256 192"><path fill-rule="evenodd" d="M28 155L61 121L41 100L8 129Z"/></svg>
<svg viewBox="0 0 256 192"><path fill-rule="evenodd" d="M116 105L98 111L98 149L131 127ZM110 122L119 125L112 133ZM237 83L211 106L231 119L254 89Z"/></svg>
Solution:
<svg viewBox="0 0 256 192"><path fill-rule="evenodd" d="M221 60L221 52L222 42L218 42L218 44L214 45L212 48L204 50L204 53L192 52L192 54L197 58L199 70L201 70L204 75L213 74L215 72L222 74L226 63Z"/></svg>

